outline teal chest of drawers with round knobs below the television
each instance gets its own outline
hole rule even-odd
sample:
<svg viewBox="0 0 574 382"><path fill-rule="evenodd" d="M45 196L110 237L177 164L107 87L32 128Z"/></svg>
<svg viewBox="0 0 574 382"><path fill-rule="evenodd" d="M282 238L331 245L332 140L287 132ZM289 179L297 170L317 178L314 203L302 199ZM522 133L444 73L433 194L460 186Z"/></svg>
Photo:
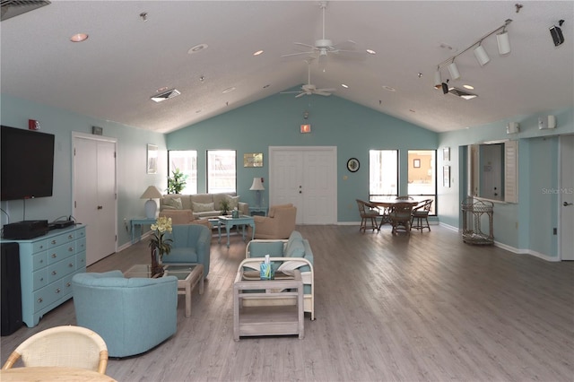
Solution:
<svg viewBox="0 0 574 382"><path fill-rule="evenodd" d="M2 240L20 246L22 321L37 326L40 317L72 297L72 276L86 272L85 226L51 230L28 240Z"/></svg>

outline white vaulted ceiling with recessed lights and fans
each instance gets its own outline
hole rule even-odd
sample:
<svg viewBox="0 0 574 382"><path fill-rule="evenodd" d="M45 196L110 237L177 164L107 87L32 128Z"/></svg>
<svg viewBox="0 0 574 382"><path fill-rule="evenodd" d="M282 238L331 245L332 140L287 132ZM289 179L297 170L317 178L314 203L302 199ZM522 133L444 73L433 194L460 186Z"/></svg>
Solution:
<svg viewBox="0 0 574 382"><path fill-rule="evenodd" d="M326 39L351 39L357 50L377 55L328 56L324 73L317 62L311 65L311 82L437 132L572 107L574 2L522 1L518 13L516 3L328 2ZM295 41L321 39L321 12L317 1L53 0L0 23L0 86L25 100L170 132L307 83L306 56L282 55L300 51ZM507 19L513 20L508 56L499 55L492 35L483 41L487 65L478 65L472 49L457 57L461 78L449 84L474 85L477 99L434 89L439 63ZM566 41L556 48L549 27L561 19ZM89 39L70 42L78 32ZM208 48L187 54L198 44ZM259 49L264 53L253 56ZM445 67L443 80L448 76ZM150 100L162 87L181 95ZM222 92L230 87L236 90ZM293 94L281 97L294 100Z"/></svg>

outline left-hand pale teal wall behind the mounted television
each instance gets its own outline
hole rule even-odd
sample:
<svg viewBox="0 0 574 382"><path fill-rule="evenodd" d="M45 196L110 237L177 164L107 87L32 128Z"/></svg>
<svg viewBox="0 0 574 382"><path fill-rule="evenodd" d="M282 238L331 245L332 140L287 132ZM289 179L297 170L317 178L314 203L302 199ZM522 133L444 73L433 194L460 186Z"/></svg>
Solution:
<svg viewBox="0 0 574 382"><path fill-rule="evenodd" d="M28 128L28 119L36 119L41 131L56 135L54 158L54 194L51 197L2 202L1 207L10 216L10 222L47 219L74 215L72 208L72 132L91 134L91 126L103 128L103 135L117 138L117 243L122 246L131 240L124 228L124 219L143 216L144 201L139 197L150 185L166 187L167 156L162 134L136 129L111 121L86 117L61 109L20 100L5 94L0 99L2 125ZM158 174L146 174L147 143L157 144L161 150ZM2 213L2 224L8 222Z"/></svg>

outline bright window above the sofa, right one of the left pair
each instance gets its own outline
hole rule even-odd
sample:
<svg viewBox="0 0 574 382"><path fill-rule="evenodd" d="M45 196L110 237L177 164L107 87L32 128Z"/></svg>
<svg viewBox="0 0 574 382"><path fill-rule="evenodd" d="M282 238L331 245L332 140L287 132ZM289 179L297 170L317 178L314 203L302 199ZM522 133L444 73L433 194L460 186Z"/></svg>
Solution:
<svg viewBox="0 0 574 382"><path fill-rule="evenodd" d="M234 150L207 151L207 193L237 192L237 160Z"/></svg>

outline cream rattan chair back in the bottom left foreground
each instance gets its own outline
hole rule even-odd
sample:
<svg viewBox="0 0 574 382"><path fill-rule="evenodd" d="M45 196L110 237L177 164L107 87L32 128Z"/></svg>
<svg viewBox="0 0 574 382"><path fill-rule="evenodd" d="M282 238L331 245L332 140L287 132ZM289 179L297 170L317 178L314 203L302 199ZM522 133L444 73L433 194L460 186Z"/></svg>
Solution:
<svg viewBox="0 0 574 382"><path fill-rule="evenodd" d="M32 335L10 354L2 369L24 366L65 366L106 373L108 348L99 334L82 326L56 326Z"/></svg>

